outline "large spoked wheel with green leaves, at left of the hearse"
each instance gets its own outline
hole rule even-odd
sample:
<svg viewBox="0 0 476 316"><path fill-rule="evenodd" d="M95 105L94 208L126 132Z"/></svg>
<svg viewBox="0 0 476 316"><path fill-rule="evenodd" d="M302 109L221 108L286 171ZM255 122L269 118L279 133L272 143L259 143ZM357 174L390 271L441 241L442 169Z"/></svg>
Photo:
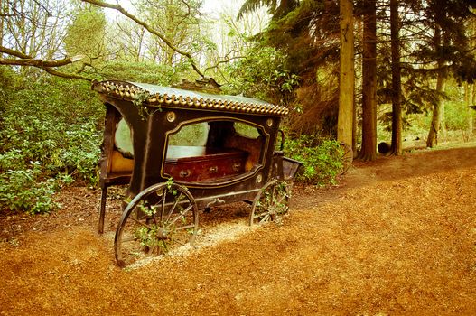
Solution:
<svg viewBox="0 0 476 316"><path fill-rule="evenodd" d="M124 210L114 239L117 265L131 265L193 243L198 226L197 204L187 188L175 183L154 184L137 194Z"/></svg>

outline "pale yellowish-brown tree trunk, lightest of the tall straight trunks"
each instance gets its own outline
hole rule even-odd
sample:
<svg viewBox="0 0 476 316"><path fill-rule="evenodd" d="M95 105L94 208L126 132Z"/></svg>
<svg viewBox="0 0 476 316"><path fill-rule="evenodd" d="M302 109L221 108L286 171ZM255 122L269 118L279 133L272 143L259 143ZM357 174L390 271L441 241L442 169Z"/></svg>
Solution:
<svg viewBox="0 0 476 316"><path fill-rule="evenodd" d="M351 0L340 1L341 64L337 139L352 146L354 118L354 23Z"/></svg>

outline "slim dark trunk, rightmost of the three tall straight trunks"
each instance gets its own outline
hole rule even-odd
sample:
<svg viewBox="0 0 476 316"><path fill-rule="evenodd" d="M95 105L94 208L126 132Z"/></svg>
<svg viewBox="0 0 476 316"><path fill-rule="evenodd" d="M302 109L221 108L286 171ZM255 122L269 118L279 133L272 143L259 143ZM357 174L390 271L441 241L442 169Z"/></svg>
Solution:
<svg viewBox="0 0 476 316"><path fill-rule="evenodd" d="M396 155L403 153L399 29L398 1L390 0L390 36L392 46L392 153Z"/></svg>

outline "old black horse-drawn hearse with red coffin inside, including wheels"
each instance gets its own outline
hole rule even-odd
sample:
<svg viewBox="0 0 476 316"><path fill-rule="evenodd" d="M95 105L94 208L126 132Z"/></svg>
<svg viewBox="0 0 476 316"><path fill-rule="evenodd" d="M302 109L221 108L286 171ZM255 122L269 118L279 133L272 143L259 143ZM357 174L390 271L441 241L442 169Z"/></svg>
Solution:
<svg viewBox="0 0 476 316"><path fill-rule="evenodd" d="M287 212L301 163L282 151L286 107L126 81L92 88L106 106L100 233L107 188L128 184L115 237L118 265L192 243L200 209L246 201L250 225Z"/></svg>

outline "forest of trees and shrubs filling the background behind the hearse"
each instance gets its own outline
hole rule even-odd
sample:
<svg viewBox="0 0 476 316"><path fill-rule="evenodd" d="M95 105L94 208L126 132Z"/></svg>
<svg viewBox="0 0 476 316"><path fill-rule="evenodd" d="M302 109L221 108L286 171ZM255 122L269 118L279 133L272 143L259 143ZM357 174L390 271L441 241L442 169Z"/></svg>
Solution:
<svg viewBox="0 0 476 316"><path fill-rule="evenodd" d="M105 109L95 80L218 83L290 109L301 181L335 182L331 152L373 161L469 142L476 104L470 0L0 0L0 208L57 209L98 185ZM384 148L385 147L385 148Z"/></svg>

